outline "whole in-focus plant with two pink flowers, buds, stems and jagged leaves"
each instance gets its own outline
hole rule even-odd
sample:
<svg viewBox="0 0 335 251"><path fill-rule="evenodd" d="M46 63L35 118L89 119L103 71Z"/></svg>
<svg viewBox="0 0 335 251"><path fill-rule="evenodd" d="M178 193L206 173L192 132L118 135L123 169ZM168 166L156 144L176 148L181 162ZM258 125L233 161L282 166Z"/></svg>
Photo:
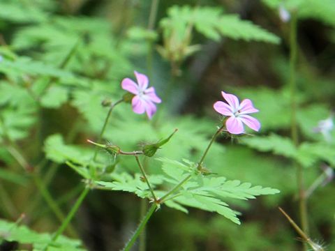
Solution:
<svg viewBox="0 0 335 251"><path fill-rule="evenodd" d="M128 78L122 80L122 88L133 94L133 97L129 99L128 96L125 95L124 97L126 98L121 100L124 102L131 102L133 112L136 114L146 112L149 119L151 119L156 112L156 105L154 103L161 102L161 99L156 95L154 87L151 86L148 88L149 79L146 75L135 71L135 76L137 78L137 84ZM70 221L70 218L73 217L84 197L86 197L88 190L123 190L126 192L133 192L142 199L149 199L151 203L149 211L147 212L147 215L144 215L142 222L140 222L139 227L137 227L137 230L126 244L124 250L130 250L144 226L147 224L149 218L151 218L151 215L161 208L162 205L176 208L181 211L187 211L185 206L200 208L204 211L216 212L223 215L225 218L232 220L232 222L239 224L237 211L230 208L225 202L225 198L254 199L258 195L274 195L278 193L279 191L273 188L262 188L260 185L252 186L251 183L241 183L241 181L237 180L228 181L223 176L212 174L210 167L205 165L204 160L209 149L216 137L222 133L225 133L226 135L241 135L244 133L242 123L245 123L253 130L258 131L260 129L259 121L248 115L253 112L258 112L258 109L253 107L251 100L246 99L239 104L238 98L233 94L222 92L222 95L228 103L218 101L214 104L216 112L223 114L221 126L214 132L214 135L209 140L209 144L204 147L204 151L198 162L186 159L182 161L170 160L168 156L161 156L156 158L156 160L163 162L163 172L161 174L151 176L144 170L140 156L144 155L149 158L154 157L156 151L163 147L164 144L168 144L169 140L174 135L174 132L177 130L174 130L172 135L166 139L161 139L153 144L144 144L141 149L134 149L134 151L123 151L121 146L101 144L101 142L88 140L89 143L96 145L98 148L105 149L107 153L112 154L114 158L127 158L127 156L129 158L133 156L138 166L137 174L131 176L124 171L113 172L108 176L109 179L112 178L114 181L104 181L105 178L103 172L100 174L97 174L95 171L84 172L84 169L87 167L68 161L68 165L73 167L73 169L85 178L87 187L82 193L83 196L78 199L79 203L75 204L74 210L69 214L68 221L59 228L59 231L57 231L57 234L52 241L57 241L57 237L64 231L66 224ZM115 104L110 104L110 110L105 119L105 123L103 124L99 140L103 139L107 123L106 121L108 121L111 116L112 109L115 105L121 104L121 100ZM227 116L229 117L228 119ZM96 149L96 153L97 151L98 150ZM92 159L93 162L96 162L96 153ZM124 156L121 157L121 155ZM90 167L93 167L92 165L93 164L91 164Z"/></svg>

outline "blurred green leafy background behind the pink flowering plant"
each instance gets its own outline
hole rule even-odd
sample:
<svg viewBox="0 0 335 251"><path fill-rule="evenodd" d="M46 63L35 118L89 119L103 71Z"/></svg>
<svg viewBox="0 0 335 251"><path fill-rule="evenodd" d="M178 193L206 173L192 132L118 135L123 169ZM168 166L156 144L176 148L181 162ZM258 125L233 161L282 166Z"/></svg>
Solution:
<svg viewBox="0 0 335 251"><path fill-rule="evenodd" d="M172 18L172 6L181 10L186 5ZM183 26L191 10L205 7L213 12L200 11L203 16ZM320 120L332 118L335 105L335 2L328 0L0 0L0 218L15 222L25 213L21 223L34 231L59 227L32 182L35 171L24 172L6 137L37 170L61 211L68 212L81 191L82 177L64 164L64 155L47 149L54 145L46 140L59 134L66 144L84 149L82 155L94 151L86 139L98 138L107 113L101 102L119 99L124 93L121 79L133 78L137 70L149 76L163 98L157 126L151 128L125 105L116 109L106 140L133 151L140 142L161 139L178 128L159 155L196 160L219 123L212 105L222 100L221 91L228 91L251 98L260 109L255 116L262 123L262 137L219 139L207 167L230 179L281 190L253 201L228 201L242 213L240 226L195 208L186 214L163 206L147 226L146 249L302 250L298 234L277 208L284 208L299 225L296 170L291 143L285 144L292 112L290 21L281 19L280 8L297 8L298 13L295 98L299 141L306 150L299 155L305 187L322 181L307 201L309 234L335 250L334 181L321 168L334 167L334 130L330 139L315 132ZM214 13L237 15L265 33L249 26L240 30L228 20L227 29L222 24L213 34L209 28ZM182 46L169 54L172 38ZM99 155L109 172L137 172L133 160L115 162L103 151ZM159 174L159 166L148 160L149 173ZM119 250L146 207L133 194L94 190L72 222L76 233L65 234L81 239L87 250ZM1 224L0 237L5 238ZM31 249L24 243L29 241L3 241L0 250Z"/></svg>

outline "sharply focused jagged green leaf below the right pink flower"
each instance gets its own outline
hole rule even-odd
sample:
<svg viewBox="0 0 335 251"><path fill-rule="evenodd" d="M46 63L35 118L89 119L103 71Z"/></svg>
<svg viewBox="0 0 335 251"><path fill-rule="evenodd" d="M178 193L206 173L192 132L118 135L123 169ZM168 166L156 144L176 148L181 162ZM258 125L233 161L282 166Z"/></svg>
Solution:
<svg viewBox="0 0 335 251"><path fill-rule="evenodd" d="M188 175L195 172L195 163L184 160L178 162L167 158L158 158L163 162L163 172L168 176L165 181L168 183L180 183ZM232 222L240 224L237 212L233 211L224 199L255 199L258 195L274 195L279 191L272 188L262 188L262 186L251 186L251 183L241 183L241 181L227 181L224 177L193 176L191 181L181 187L177 195L172 196L172 202L166 203L172 208L187 211L184 206L200 208L205 211L216 212L225 216ZM179 204L179 205L178 205Z"/></svg>

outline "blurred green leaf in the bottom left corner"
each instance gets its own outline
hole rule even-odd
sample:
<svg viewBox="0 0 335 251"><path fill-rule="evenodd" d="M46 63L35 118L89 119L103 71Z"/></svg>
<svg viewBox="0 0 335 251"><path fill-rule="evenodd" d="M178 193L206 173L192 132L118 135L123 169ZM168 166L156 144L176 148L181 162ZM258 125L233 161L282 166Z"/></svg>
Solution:
<svg viewBox="0 0 335 251"><path fill-rule="evenodd" d="M42 250L50 243L52 235L40 234L26 226L17 225L15 222L0 220L0 241L17 241L20 244L31 244L34 250ZM50 245L48 250L84 250L80 248L81 241L60 236Z"/></svg>

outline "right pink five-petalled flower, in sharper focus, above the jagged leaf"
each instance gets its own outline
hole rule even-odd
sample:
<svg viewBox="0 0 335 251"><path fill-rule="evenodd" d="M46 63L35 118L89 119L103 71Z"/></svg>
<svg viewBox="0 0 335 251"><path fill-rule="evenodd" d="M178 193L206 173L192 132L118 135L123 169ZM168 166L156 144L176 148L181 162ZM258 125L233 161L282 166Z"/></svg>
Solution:
<svg viewBox="0 0 335 251"><path fill-rule="evenodd" d="M221 91L223 98L228 102L217 101L214 103L213 107L219 114L224 116L230 116L225 122L225 127L228 132L238 135L244 132L243 123L249 128L258 132L260 130L260 122L249 116L254 112L258 112L258 109L253 107L253 103L249 99L242 100L241 104L237 96L233 94L225 93Z"/></svg>

